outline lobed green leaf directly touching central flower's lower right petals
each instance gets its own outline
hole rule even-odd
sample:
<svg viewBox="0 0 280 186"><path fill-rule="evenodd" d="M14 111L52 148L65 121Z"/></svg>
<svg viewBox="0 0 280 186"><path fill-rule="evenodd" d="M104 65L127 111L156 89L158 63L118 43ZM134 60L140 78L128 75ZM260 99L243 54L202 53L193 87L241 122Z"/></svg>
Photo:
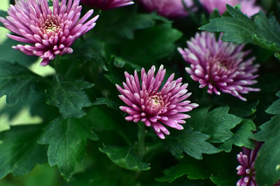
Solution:
<svg viewBox="0 0 280 186"><path fill-rule="evenodd" d="M209 135L185 127L184 130L172 132L167 139L162 140L162 144L177 158L183 158L185 152L195 159L202 160L202 153L214 154L221 151L209 144L207 139Z"/></svg>

